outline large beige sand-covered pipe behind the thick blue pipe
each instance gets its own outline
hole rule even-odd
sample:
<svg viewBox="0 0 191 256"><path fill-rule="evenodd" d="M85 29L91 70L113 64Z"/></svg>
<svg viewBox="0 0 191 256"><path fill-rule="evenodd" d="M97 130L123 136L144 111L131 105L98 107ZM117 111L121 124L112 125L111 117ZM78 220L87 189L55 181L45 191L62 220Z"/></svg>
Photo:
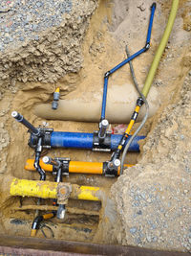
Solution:
<svg viewBox="0 0 191 256"><path fill-rule="evenodd" d="M64 121L81 121L81 122L99 122L101 113L101 92L94 95L91 99L83 94L83 99L60 100L58 108L52 109L51 104L41 104L34 107L34 114L41 118L64 120ZM110 123L128 123L134 111L138 93L132 84L123 84L112 86L108 89L106 119ZM150 105L149 117L153 116L159 107L159 93L153 87L149 93L148 102ZM138 121L145 113L144 106L139 112Z"/></svg>

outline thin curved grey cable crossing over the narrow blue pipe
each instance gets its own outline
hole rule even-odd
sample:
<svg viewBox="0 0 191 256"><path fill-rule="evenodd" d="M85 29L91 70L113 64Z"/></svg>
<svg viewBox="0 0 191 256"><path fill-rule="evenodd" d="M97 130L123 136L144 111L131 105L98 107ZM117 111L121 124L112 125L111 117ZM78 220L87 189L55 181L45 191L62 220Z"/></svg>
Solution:
<svg viewBox="0 0 191 256"><path fill-rule="evenodd" d="M128 50L128 47L126 46L126 54L127 54L127 57L129 58L130 56L130 53L129 53L129 50ZM138 135L138 132L140 131L141 128L143 128L144 124L146 123L147 121L147 118L148 118L148 115L149 115L149 104L146 100L146 98L144 97L144 95L141 93L141 91L139 90L139 87L138 87L138 81L136 79L136 75L135 75L135 72L134 72L134 67L133 67L133 64L132 64L132 60L129 61L129 65L130 65L130 70L131 70L131 74L132 74L132 78L133 78L133 81L135 83L135 86L136 86L136 89L138 91L138 94L139 96L141 97L142 101L144 102L145 104L145 107L146 107L146 113L145 113L145 116L142 120L142 122L140 123L139 127L137 128L137 130L135 131L135 133L131 136L130 140L128 141L128 143L126 144L123 152L122 152L122 157L121 157L121 163L120 163L120 174L119 175L122 175L123 174L123 165L124 165L124 160L125 160L125 156L126 156L126 153L132 143L132 141L134 140L134 138Z"/></svg>

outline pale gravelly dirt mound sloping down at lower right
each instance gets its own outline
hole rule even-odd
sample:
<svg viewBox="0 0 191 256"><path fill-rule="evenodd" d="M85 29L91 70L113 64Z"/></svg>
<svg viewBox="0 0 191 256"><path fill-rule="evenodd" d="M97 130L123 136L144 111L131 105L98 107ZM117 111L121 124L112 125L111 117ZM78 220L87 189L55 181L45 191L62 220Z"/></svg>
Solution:
<svg viewBox="0 0 191 256"><path fill-rule="evenodd" d="M119 244L191 250L190 84L191 72L156 120L138 165L113 186Z"/></svg>

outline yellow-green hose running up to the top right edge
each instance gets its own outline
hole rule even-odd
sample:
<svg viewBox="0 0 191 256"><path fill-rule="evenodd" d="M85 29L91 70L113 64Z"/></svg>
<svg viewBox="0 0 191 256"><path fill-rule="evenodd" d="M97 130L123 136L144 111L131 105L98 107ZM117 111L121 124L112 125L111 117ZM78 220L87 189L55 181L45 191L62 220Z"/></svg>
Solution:
<svg viewBox="0 0 191 256"><path fill-rule="evenodd" d="M169 18L168 18L168 23L166 25L166 29L164 31L164 34L162 35L157 53L155 55L155 58L153 59L151 68L149 70L146 81L144 83L144 87L142 89L142 94L144 95L145 98L148 95L148 92L150 90L151 84L152 84L153 79L155 77L157 68L159 66L159 59L161 58L161 55L163 54L163 51L164 51L164 49L166 47L166 44L168 42L168 38L171 34L173 24L174 24L174 21L175 21L175 18L176 18L176 14L177 14L177 11L178 11L178 7L179 7L179 0L173 0L173 4L172 4L171 12L170 12L170 15L169 15Z"/></svg>

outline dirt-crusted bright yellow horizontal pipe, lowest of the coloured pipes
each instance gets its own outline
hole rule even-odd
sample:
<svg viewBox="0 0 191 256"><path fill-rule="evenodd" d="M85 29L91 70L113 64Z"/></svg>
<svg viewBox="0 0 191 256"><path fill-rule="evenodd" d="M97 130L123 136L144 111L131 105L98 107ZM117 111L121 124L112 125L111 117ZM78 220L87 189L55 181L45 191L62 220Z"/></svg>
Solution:
<svg viewBox="0 0 191 256"><path fill-rule="evenodd" d="M9 185L10 184L10 185ZM12 178L6 186L6 193L10 196L34 197L34 198L59 198L57 187L65 191L65 183L57 183L51 181L38 181ZM68 184L68 183L67 183ZM7 191L8 190L8 191ZM100 187L72 185L70 197L72 199L82 200L102 200L105 198L105 190Z"/></svg>

